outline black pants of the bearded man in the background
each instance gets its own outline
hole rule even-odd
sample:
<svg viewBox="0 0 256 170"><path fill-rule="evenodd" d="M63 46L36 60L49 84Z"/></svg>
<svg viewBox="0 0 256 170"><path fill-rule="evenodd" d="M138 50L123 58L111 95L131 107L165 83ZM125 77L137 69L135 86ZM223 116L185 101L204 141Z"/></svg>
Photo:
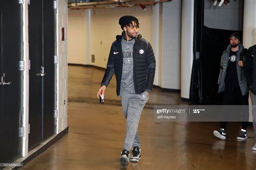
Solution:
<svg viewBox="0 0 256 170"><path fill-rule="evenodd" d="M240 87L233 87L233 85L225 85L224 90L224 105L249 105L248 103L249 93L246 93L242 96ZM246 107L247 110L245 113L242 113L244 117L246 117L247 121L242 121L242 129L246 130L248 126L248 118L249 118L249 106ZM220 123L220 128L224 128L226 130L227 121L223 121Z"/></svg>

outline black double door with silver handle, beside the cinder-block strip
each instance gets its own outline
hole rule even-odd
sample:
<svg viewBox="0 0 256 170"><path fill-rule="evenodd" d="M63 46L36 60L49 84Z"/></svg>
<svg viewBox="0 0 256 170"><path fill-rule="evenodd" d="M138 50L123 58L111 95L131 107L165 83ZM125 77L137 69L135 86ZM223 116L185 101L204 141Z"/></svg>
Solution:
<svg viewBox="0 0 256 170"><path fill-rule="evenodd" d="M54 134L55 10L53 1L29 5L29 149Z"/></svg>

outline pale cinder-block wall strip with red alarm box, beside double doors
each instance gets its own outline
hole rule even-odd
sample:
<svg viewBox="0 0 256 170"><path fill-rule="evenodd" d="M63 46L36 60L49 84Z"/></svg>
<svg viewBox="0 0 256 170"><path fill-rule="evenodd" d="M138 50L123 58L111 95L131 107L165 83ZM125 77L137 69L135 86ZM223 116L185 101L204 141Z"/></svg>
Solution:
<svg viewBox="0 0 256 170"><path fill-rule="evenodd" d="M57 133L68 126L68 0L59 0L57 9ZM61 28L65 28L62 40Z"/></svg>

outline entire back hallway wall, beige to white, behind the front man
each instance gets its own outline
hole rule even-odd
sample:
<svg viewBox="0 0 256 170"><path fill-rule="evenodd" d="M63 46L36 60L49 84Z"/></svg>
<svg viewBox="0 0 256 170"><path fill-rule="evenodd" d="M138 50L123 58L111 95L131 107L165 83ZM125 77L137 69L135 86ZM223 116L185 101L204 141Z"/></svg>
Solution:
<svg viewBox="0 0 256 170"><path fill-rule="evenodd" d="M123 15L134 15L139 19L139 31L153 47L157 61L154 85L179 90L181 43L179 0L147 5L146 10L140 6L69 10L68 62L105 68L110 46L116 35L122 32L118 20ZM89 30L90 36L86 37L86 32ZM95 57L94 63L92 55Z"/></svg>

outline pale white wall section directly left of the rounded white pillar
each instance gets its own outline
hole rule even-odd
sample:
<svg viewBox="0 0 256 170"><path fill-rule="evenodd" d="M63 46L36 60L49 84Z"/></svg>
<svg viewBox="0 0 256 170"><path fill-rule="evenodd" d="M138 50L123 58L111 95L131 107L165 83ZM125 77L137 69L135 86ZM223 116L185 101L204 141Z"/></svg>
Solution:
<svg viewBox="0 0 256 170"><path fill-rule="evenodd" d="M181 1L163 3L162 83L180 90ZM193 44L193 43L192 43Z"/></svg>

